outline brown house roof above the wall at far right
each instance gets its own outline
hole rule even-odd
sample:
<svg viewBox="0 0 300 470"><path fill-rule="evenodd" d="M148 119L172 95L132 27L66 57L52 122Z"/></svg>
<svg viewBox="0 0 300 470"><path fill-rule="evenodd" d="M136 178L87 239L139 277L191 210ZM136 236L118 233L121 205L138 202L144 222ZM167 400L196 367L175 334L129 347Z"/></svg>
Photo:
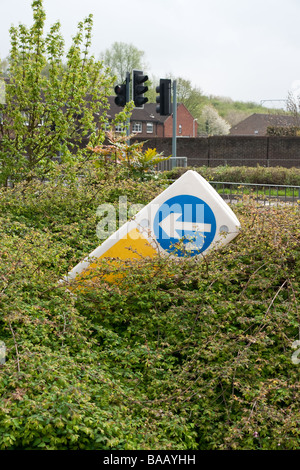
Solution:
<svg viewBox="0 0 300 470"><path fill-rule="evenodd" d="M281 114L252 114L230 129L230 135L266 135L269 126L297 125L294 116Z"/></svg>

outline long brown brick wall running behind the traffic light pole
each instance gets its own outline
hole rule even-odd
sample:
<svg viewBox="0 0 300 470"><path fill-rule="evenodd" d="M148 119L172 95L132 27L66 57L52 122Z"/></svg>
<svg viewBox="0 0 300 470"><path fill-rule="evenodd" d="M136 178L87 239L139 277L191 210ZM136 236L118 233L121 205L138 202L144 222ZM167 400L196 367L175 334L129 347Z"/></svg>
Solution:
<svg viewBox="0 0 300 470"><path fill-rule="evenodd" d="M143 140L143 139L134 139ZM212 136L177 137L177 156L188 166L283 166L300 168L300 137ZM172 138L148 139L144 149L172 154Z"/></svg>

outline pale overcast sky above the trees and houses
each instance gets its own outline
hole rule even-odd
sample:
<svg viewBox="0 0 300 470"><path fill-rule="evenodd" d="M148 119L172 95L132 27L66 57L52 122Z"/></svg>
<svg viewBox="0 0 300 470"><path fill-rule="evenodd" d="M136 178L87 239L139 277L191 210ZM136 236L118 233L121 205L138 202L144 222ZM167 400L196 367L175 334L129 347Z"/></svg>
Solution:
<svg viewBox="0 0 300 470"><path fill-rule="evenodd" d="M11 25L32 24L32 0L0 0L0 58ZM300 0L44 0L66 47L93 14L91 53L114 42L144 51L149 76L182 77L205 95L268 107L300 93ZM282 100L282 101L279 101Z"/></svg>

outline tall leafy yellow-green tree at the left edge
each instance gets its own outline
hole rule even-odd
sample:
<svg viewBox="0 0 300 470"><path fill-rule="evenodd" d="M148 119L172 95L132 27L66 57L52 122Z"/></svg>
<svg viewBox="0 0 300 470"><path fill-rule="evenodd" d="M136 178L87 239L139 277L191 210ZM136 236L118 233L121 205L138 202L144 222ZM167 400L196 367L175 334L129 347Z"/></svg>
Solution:
<svg viewBox="0 0 300 470"><path fill-rule="evenodd" d="M93 19L78 24L66 54L60 23L44 35L43 1L32 2L33 25L10 28L6 103L0 104L0 183L46 175L55 159L88 158L105 137L112 78L89 57ZM45 67L48 72L45 74Z"/></svg>

